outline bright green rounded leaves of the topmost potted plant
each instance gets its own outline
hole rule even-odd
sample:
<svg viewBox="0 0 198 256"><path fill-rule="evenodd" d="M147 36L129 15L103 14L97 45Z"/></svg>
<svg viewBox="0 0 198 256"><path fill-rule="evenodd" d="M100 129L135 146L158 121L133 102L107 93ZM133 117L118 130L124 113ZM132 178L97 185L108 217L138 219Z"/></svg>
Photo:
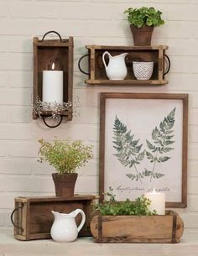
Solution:
<svg viewBox="0 0 198 256"><path fill-rule="evenodd" d="M128 8L124 13L128 14L128 23L138 28L143 25L157 27L164 24L161 19L162 12L153 7Z"/></svg>

